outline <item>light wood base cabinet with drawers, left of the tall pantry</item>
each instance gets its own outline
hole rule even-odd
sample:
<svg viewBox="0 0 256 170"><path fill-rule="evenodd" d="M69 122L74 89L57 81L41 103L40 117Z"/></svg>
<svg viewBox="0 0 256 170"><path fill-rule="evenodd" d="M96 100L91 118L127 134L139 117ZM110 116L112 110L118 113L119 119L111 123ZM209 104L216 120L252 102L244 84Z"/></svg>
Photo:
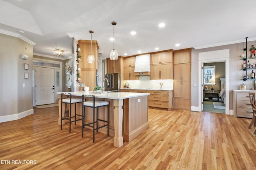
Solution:
<svg viewBox="0 0 256 170"><path fill-rule="evenodd" d="M148 90L148 106L157 109L172 109L172 90Z"/></svg>

